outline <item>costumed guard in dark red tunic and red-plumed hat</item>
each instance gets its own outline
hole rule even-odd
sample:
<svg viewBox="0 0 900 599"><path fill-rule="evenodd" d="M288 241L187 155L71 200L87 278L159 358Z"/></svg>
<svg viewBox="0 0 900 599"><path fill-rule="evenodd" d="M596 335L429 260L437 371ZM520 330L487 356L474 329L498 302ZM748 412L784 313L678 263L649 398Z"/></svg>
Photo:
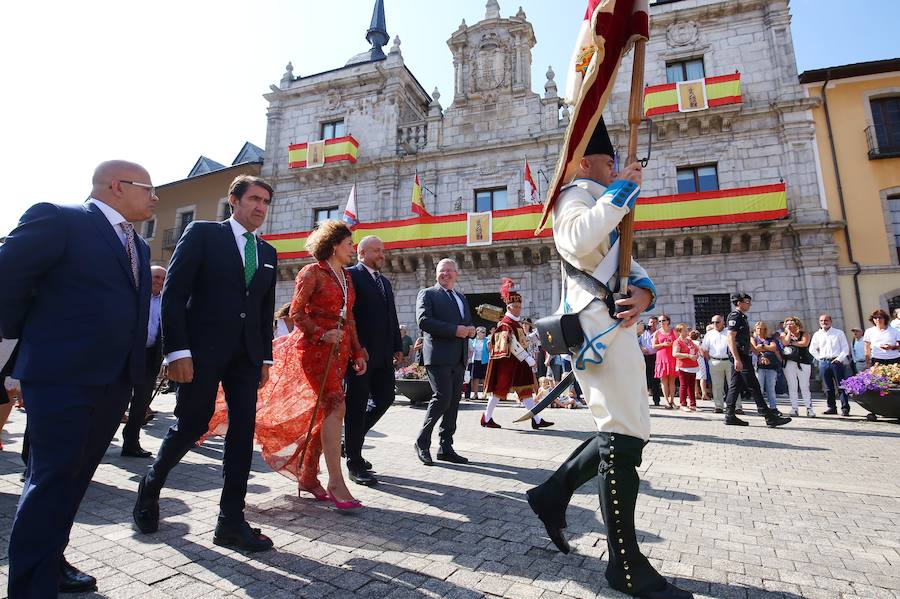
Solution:
<svg viewBox="0 0 900 599"><path fill-rule="evenodd" d="M481 426L500 428L494 422L494 408L501 399L512 391L531 409L534 407L534 358L528 354L528 341L522 317L522 295L513 290L512 279L504 278L500 286L500 297L506 304L506 314L497 323L497 330L491 336L490 360L484 377L484 390L488 394L488 405L481 415ZM552 422L540 416L531 419L531 428L553 426Z"/></svg>

